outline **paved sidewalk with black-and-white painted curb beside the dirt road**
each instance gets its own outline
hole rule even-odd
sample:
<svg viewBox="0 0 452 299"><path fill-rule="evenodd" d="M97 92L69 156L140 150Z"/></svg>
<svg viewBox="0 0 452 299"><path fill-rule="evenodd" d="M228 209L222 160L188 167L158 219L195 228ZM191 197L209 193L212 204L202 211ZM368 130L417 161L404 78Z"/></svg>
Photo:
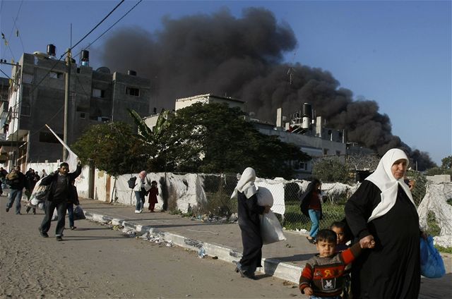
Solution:
<svg viewBox="0 0 452 299"><path fill-rule="evenodd" d="M81 199L81 205L86 218L92 221L112 222L113 225L124 226L142 233L149 231L152 235L158 235L168 242L172 241L174 245L182 248L198 252L203 249L206 255L218 257L225 262L239 261L242 255L242 237L237 223L203 222L167 212L150 213L147 210L143 210L141 214L135 214L134 207L97 200ZM298 283L302 268L316 253L316 247L310 244L306 236L301 233L285 231L285 237L287 240L263 245L263 267L258 271ZM444 263L447 272L444 291L451 295L449 284L452 272L451 255L444 255ZM425 280L431 281L431 279L422 278L423 282ZM441 279L434 281L437 284Z"/></svg>

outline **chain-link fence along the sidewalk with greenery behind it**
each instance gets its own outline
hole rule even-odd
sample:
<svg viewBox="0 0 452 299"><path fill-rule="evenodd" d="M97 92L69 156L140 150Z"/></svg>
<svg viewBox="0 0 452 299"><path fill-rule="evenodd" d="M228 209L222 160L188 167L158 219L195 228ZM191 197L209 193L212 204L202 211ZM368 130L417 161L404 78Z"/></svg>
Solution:
<svg viewBox="0 0 452 299"><path fill-rule="evenodd" d="M237 198L230 198L237 185L237 175L233 174L197 174L198 180L203 188L205 199L198 201L197 205L189 207L186 213L177 210L177 205L171 204L169 199L169 212L182 213L186 216L195 216L198 219L234 219L237 213ZM428 181L421 173L410 173L410 178L416 181L415 188L412 190L413 200L417 206L426 195ZM275 200L273 211L283 227L287 230L307 230L311 228L309 217L302 214L299 208L299 197L306 190L309 181L283 179L266 180L257 178L256 185L270 190ZM320 221L321 228L328 228L334 221L340 221L345 218L344 206L347 199L355 192L359 185L346 185L342 183L323 183L323 219ZM448 205L451 205L452 194L446 195ZM173 201L174 202L174 201ZM277 207L282 205L283 207ZM427 232L432 236L439 236L441 228L439 224L451 219L438 219L441 214L429 211L427 223ZM235 218L237 219L237 218Z"/></svg>

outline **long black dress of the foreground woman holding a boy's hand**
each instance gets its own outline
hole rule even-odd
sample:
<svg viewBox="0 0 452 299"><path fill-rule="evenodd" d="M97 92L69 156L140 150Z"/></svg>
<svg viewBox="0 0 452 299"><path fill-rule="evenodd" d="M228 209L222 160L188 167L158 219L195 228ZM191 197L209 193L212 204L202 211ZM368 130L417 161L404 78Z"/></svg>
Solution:
<svg viewBox="0 0 452 299"><path fill-rule="evenodd" d="M352 265L353 298L415 299L420 291L420 228L415 206L398 187L396 204L367 224L381 191L364 181L345 205L357 240L371 234L375 248L363 250Z"/></svg>

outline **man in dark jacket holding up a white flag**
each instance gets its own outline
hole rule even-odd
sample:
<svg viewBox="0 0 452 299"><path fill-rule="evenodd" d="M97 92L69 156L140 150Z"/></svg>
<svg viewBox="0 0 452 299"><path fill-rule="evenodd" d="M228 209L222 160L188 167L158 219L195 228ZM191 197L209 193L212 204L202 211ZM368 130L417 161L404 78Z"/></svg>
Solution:
<svg viewBox="0 0 452 299"><path fill-rule="evenodd" d="M69 173L69 164L63 162L59 166L59 171L54 171L54 173L50 173L45 178L42 178L41 185L49 185L50 188L45 200L45 216L44 219L42 219L39 228L42 237L49 237L47 231L50 229L50 221L52 221L54 209L56 208L58 222L55 236L58 241L63 240L66 204L69 200L72 200L73 197L71 181L75 180L80 175L81 171L82 167L80 161L78 161L76 171L71 173Z"/></svg>

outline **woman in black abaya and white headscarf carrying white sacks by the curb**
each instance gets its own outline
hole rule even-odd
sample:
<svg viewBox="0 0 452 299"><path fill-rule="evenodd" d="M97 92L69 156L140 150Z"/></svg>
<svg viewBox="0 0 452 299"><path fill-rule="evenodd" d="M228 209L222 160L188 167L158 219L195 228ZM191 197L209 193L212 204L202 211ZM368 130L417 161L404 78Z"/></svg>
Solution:
<svg viewBox="0 0 452 299"><path fill-rule="evenodd" d="M262 267L262 236L259 214L268 213L270 206L261 207L257 204L257 188L254 185L256 172L251 167L246 168L234 189L231 198L237 195L239 227L242 231L243 253L237 263L236 271L249 279L255 279L254 271Z"/></svg>

